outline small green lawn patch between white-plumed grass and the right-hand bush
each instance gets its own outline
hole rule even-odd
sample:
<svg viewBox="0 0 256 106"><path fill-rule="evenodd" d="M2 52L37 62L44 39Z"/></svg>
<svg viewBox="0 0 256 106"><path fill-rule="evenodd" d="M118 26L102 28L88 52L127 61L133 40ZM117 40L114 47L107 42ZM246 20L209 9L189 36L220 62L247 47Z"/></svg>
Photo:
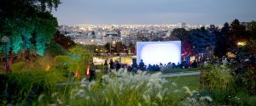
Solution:
<svg viewBox="0 0 256 106"><path fill-rule="evenodd" d="M199 91L199 75L183 75L167 77L167 81L175 82L177 88L183 88L183 86L188 86L191 91Z"/></svg>

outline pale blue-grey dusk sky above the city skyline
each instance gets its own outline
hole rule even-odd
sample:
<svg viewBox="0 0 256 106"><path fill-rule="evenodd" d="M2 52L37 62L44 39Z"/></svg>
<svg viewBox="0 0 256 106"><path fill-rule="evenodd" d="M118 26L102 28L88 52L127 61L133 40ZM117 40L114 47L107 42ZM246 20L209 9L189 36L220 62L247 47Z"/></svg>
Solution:
<svg viewBox="0 0 256 106"><path fill-rule="evenodd" d="M256 20L256 0L61 0L59 25L224 24Z"/></svg>

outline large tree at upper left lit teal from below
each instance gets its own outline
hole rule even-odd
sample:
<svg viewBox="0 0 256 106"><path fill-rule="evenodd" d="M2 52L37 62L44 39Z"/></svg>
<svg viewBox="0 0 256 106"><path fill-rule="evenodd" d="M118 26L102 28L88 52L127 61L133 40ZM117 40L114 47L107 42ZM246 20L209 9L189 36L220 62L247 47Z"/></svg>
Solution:
<svg viewBox="0 0 256 106"><path fill-rule="evenodd" d="M46 44L49 44L58 26L50 12L60 3L60 0L1 0L0 37L9 36L7 53L35 51L43 55Z"/></svg>

